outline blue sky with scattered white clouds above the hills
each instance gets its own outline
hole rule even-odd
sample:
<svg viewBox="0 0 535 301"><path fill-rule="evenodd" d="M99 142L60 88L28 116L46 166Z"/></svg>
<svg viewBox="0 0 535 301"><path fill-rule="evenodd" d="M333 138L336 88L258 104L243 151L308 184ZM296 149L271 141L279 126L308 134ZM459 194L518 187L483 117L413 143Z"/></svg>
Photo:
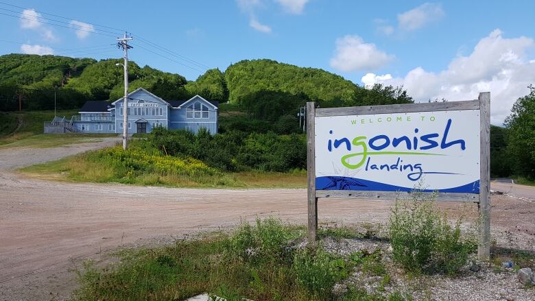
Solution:
<svg viewBox="0 0 535 301"><path fill-rule="evenodd" d="M501 123L514 100L527 94L527 84L535 84L535 1L2 2L36 12L0 3L0 53L121 57L111 45L115 34L101 31L117 30L70 24L76 20L127 29L134 36L132 60L188 80L202 74L203 65L224 70L239 60L270 58L325 69L360 85L403 84L418 101L473 99L490 91L493 123ZM40 17L73 28L35 22L51 22Z"/></svg>

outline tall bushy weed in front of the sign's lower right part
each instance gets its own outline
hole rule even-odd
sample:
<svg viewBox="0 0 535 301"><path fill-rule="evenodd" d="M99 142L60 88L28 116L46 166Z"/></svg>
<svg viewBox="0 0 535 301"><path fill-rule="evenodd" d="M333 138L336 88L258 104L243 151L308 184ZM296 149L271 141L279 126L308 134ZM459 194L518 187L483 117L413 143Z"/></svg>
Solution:
<svg viewBox="0 0 535 301"><path fill-rule="evenodd" d="M393 257L413 272L457 274L475 244L462 239L460 219L451 226L433 200L414 192L412 200L396 201L389 225Z"/></svg>

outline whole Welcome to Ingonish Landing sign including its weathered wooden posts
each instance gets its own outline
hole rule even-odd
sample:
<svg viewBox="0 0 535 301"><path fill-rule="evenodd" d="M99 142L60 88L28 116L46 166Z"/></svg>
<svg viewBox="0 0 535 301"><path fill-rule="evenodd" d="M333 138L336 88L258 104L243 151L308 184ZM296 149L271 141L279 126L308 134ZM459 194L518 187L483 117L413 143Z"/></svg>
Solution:
<svg viewBox="0 0 535 301"><path fill-rule="evenodd" d="M421 191L438 201L478 204L477 254L489 260L490 93L470 101L306 108L309 241L317 239L318 198L395 200L423 181Z"/></svg>

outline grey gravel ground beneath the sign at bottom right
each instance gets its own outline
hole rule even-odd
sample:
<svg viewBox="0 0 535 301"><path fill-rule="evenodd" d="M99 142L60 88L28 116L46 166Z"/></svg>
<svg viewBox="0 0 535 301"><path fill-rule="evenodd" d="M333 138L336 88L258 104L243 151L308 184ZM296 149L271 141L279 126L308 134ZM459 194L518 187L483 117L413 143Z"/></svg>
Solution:
<svg viewBox="0 0 535 301"><path fill-rule="evenodd" d="M496 230L496 229L494 229ZM500 241L498 246L505 246ZM323 245L327 252L348 255L353 252L377 249L383 254L383 263L391 276L390 284L379 289L381 276L369 276L358 270L346 281L335 287L335 291L344 291L347 285L363 287L370 294L408 293L414 300L535 300L535 287L527 288L519 282L513 269L495 269L490 263L477 263L479 271L472 272L466 266L462 274L451 278L443 275L409 277L390 260L390 243L373 239L325 239ZM534 245L530 245L535 252ZM472 258L475 261L475 258ZM534 267L532 267L534 268Z"/></svg>

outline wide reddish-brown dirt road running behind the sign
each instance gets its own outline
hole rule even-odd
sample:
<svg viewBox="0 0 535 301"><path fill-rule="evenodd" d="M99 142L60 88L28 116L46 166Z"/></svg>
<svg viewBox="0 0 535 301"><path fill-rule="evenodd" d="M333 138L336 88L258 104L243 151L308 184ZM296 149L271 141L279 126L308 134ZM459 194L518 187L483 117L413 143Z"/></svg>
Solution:
<svg viewBox="0 0 535 301"><path fill-rule="evenodd" d="M102 259L121 245L165 243L259 215L305 223L305 189L72 184L22 178L9 171L114 142L0 151L0 300L63 299L75 287L72 267L86 258ZM383 223L390 205L377 200L321 200L318 212L322 223ZM473 217L477 208L441 206L454 213L468 211ZM535 237L534 214L535 202L493 196L493 234L506 229Z"/></svg>

